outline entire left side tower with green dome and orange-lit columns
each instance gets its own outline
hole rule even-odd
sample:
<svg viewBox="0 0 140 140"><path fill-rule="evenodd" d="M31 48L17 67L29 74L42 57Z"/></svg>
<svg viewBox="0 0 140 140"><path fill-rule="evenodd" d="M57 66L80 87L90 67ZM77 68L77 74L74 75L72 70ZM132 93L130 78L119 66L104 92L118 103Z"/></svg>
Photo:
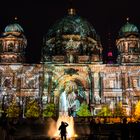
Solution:
<svg viewBox="0 0 140 140"><path fill-rule="evenodd" d="M22 27L17 24L6 26L0 38L0 62L1 63L22 63L24 62L27 39L24 36Z"/></svg>

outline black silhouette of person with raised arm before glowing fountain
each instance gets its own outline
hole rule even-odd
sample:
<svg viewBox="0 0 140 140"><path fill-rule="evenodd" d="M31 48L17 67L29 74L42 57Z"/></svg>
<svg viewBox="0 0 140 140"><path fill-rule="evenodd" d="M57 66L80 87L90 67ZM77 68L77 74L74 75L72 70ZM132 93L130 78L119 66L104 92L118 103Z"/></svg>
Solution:
<svg viewBox="0 0 140 140"><path fill-rule="evenodd" d="M66 122L61 122L61 125L59 127L60 130L60 135L61 135L61 140L66 140L66 127L68 126L68 124ZM64 139L63 139L64 138Z"/></svg>

